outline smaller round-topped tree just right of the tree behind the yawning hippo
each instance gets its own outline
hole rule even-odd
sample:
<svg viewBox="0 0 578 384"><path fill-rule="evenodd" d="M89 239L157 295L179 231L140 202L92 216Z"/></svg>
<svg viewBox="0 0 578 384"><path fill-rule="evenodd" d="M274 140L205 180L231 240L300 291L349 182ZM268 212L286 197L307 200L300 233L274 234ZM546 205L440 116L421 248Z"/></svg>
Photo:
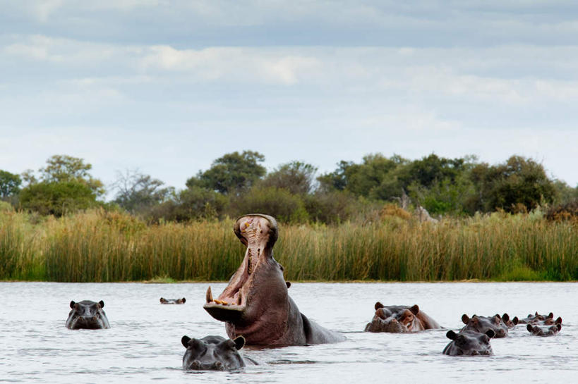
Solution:
<svg viewBox="0 0 578 384"><path fill-rule="evenodd" d="M317 168L301 161L291 161L282 164L268 174L261 182L265 188L278 188L292 194L308 194L313 192Z"/></svg>

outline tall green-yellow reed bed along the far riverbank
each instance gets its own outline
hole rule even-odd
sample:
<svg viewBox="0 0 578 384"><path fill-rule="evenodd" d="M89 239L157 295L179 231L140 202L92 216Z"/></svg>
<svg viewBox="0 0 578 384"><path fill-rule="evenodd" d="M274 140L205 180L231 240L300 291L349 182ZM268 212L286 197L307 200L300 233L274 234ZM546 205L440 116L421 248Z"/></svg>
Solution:
<svg viewBox="0 0 578 384"><path fill-rule="evenodd" d="M63 218L0 212L0 279L228 280L244 247L233 221L145 225L87 211ZM578 280L578 227L494 213L437 224L282 225L275 258L288 280Z"/></svg>

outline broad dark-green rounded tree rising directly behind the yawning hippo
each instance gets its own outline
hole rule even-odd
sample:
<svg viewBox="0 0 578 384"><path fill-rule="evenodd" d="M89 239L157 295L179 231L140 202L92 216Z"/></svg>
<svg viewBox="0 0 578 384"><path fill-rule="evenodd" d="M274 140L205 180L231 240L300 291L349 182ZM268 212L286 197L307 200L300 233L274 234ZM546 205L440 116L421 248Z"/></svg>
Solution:
<svg viewBox="0 0 578 384"><path fill-rule="evenodd" d="M212 162L211 168L187 180L187 187L203 187L222 194L240 194L251 188L267 170L259 163L265 156L255 151L235 151Z"/></svg>

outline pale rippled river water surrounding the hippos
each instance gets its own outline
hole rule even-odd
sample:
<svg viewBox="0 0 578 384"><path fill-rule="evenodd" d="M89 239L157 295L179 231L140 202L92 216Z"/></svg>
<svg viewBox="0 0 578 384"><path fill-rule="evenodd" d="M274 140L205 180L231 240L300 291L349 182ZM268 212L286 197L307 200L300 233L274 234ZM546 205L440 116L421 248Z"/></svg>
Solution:
<svg viewBox="0 0 578 384"><path fill-rule="evenodd" d="M222 335L224 324L203 309L202 284L0 283L0 382L10 383L571 383L578 380L576 283L294 283L303 314L339 330L346 342L258 349L260 363L238 372L181 369L181 337ZM218 295L222 283L213 283ZM159 298L186 297L183 305ZM104 300L108 330L68 330L68 303ZM376 301L419 304L445 328L466 313L534 311L562 316L554 337L524 326L491 341L493 357L442 354L446 330L415 334L363 333Z"/></svg>

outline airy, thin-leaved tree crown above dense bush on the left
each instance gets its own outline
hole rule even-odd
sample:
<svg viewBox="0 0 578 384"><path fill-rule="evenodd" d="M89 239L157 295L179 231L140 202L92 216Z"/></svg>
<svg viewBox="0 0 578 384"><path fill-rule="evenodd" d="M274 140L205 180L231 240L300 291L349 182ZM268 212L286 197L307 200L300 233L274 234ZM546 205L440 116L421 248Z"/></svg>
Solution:
<svg viewBox="0 0 578 384"><path fill-rule="evenodd" d="M92 165L85 163L83 159L68 155L54 155L46 163L47 166L39 170L42 181L80 182L80 184L88 186L97 196L104 194L102 182L92 178L92 175L88 173L92 169Z"/></svg>

